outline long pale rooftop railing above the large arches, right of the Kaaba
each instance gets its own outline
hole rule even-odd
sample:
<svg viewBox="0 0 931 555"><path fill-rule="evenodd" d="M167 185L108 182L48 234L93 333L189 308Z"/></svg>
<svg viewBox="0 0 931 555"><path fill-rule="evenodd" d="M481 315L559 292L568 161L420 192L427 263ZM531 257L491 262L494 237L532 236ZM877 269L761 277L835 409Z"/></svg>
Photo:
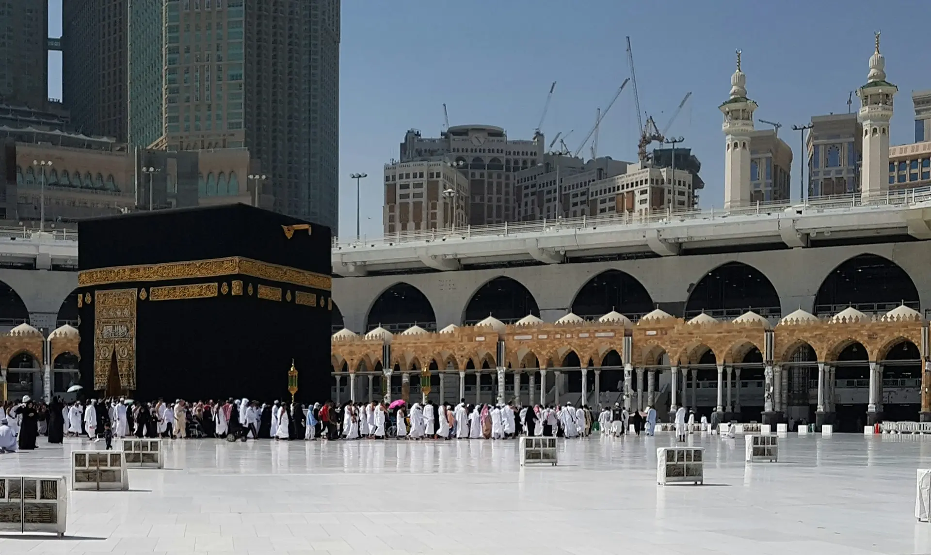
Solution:
<svg viewBox="0 0 931 555"><path fill-rule="evenodd" d="M818 196L805 202L757 202L756 204L733 208L730 210L660 210L644 214L639 213L613 213L598 214L595 216L581 216L577 218L557 218L535 220L533 222L495 223L492 225L468 225L466 227L425 229L419 231L398 232L384 237L355 237L340 240L333 237L332 246L335 250L352 247L374 247L378 245L395 245L405 242L432 242L447 239L469 237L495 237L512 234L533 234L558 232L571 229L597 229L600 225L645 225L649 223L676 223L698 220L724 219L734 216L752 216L782 214L789 209L806 211L847 211L860 207L906 206L919 202L931 201L931 185L914 189L889 191L885 196L866 198L858 194L838 196Z"/></svg>

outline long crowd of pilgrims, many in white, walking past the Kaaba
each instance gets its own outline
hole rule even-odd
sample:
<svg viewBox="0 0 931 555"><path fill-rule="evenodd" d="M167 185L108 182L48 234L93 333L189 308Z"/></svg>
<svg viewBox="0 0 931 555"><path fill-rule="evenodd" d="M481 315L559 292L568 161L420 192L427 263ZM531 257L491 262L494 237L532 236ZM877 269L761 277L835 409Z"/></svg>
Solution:
<svg viewBox="0 0 931 555"><path fill-rule="evenodd" d="M260 403L250 399L137 402L125 398L46 405L24 397L4 402L0 413L0 452L35 449L35 440L49 443L65 436L109 441L112 438L225 438L227 440L357 440L362 438L491 439L530 436L585 437L594 430L621 435L633 426L652 435L656 411L627 411L617 404L596 417L586 406L517 406L514 402L458 404L371 401L344 404L328 400L304 410L299 402Z"/></svg>

